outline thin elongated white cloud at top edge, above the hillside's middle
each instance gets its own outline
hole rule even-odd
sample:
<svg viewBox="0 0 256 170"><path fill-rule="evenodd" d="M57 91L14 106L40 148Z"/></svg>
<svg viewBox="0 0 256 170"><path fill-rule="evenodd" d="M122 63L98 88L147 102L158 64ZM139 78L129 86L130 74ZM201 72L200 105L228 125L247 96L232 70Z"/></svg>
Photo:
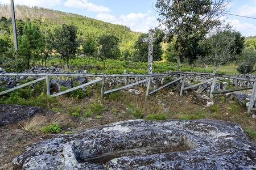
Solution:
<svg viewBox="0 0 256 170"><path fill-rule="evenodd" d="M76 8L86 8L88 11L92 12L110 12L108 7L94 5L92 2L87 2L88 0L68 0L64 2L64 6L76 7Z"/></svg>

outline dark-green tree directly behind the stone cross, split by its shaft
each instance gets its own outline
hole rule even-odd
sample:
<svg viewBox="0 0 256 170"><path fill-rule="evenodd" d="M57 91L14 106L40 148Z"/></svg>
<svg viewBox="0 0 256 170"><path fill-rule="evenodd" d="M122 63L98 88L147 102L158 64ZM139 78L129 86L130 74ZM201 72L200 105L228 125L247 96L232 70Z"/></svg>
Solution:
<svg viewBox="0 0 256 170"><path fill-rule="evenodd" d="M148 42L141 42L142 37L148 37L148 33L142 33L134 45L134 60L141 62L148 62ZM160 61L162 59L162 42L164 33L156 29L154 37L156 38L153 43L153 61Z"/></svg>

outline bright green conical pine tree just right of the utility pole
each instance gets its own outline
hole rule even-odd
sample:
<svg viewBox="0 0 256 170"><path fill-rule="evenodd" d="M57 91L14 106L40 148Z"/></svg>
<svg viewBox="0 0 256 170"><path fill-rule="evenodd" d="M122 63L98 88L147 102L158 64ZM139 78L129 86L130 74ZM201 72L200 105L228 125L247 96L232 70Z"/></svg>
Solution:
<svg viewBox="0 0 256 170"><path fill-rule="evenodd" d="M23 35L18 37L18 46L19 54L25 58L29 69L30 59L38 57L44 48L43 35L31 25L31 22L28 22L24 27Z"/></svg>

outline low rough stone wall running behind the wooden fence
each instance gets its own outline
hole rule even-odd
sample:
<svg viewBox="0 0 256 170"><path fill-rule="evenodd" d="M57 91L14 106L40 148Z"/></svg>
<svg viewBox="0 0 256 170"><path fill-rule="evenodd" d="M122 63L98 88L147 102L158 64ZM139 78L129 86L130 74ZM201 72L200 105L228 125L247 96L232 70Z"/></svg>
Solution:
<svg viewBox="0 0 256 170"><path fill-rule="evenodd" d="M4 69L0 69L0 72L5 72ZM68 70L63 70L63 69L59 69L56 67L31 67L31 69L26 69L24 71L24 73L68 73ZM73 73L88 73L88 71L86 70L82 70L82 69L78 69L73 71ZM170 72L167 72L170 73ZM131 73L126 73L126 71L124 71L123 74L134 74L133 72ZM173 79L177 78L177 75L171 75L173 77ZM234 74L234 76L240 77L240 78L254 78L256 79L256 75L253 74ZM167 78L168 76L157 76L152 78L152 86L156 87L159 86L160 84L164 84L164 80ZM16 78L12 78L12 77L7 77L7 76L0 76L0 81L6 82L7 86L13 86L15 87L18 82L19 79L26 79L27 76L17 76ZM131 77L108 77L106 78L106 85L110 88L117 86L117 85L123 85L123 84L130 84L130 83L135 83L138 82L139 80L142 80L146 77L143 76L131 76ZM199 82L203 82L204 80L208 80L212 78L212 76L210 75L192 75L192 74L188 74L187 78L186 78L186 83L187 84L196 84ZM96 79L96 77L88 77L88 80L93 80ZM241 81L241 80L237 80L237 79L233 79L233 78L221 78L221 77L217 77L217 80L220 80L221 82L229 82L232 86L236 86L236 87L244 87L244 86L253 86L253 82L245 82L245 81ZM217 81L218 82L218 81ZM141 87L146 87L147 86L147 82L141 83L139 84L139 86Z"/></svg>

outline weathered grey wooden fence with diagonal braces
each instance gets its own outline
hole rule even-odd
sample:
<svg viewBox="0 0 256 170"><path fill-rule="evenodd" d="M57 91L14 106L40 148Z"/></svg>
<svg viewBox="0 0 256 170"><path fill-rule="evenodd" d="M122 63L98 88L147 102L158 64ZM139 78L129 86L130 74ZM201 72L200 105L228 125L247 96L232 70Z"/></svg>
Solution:
<svg viewBox="0 0 256 170"><path fill-rule="evenodd" d="M189 75L209 75L209 76L212 76L212 78L210 78L208 80L205 80L204 82L193 84L189 87L184 88L184 83L185 83L185 80L186 80L188 74ZM172 75L177 75L177 77L179 77L179 78L177 78L175 80L172 80L171 82L168 82L168 83L164 84L161 87L155 88L155 90L150 91L150 82L151 82L152 77L155 77L155 76L172 76ZM150 94L152 94L152 93L154 93L154 92L156 92L156 91L174 83L174 82L179 81L179 80L182 80L181 81L181 88L180 88L180 96L182 95L184 90L200 86L201 84L204 84L204 83L212 82L211 90L210 90L210 98L213 97L213 94L220 94L220 93L227 93L227 92L232 92L232 91L241 91L241 90L253 89L253 91L251 92L250 103L249 103L247 113L250 113L251 111L256 111L256 108L253 108L254 99L255 99L255 96L256 96L256 79L254 79L254 78L240 78L240 77L233 76L233 75L225 75L225 74L217 74L217 73L215 73L215 74L214 73L195 73L195 72L185 71L185 72L161 73L161 74L0 73L0 76L43 76L42 78L36 79L34 81L31 81L31 82L28 82L28 83L25 83L25 84L22 84L18 87L14 87L14 88L11 88L9 90L0 92L0 95L4 95L4 94L6 94L8 92L11 92L11 91L14 91L14 90L18 90L19 88L29 86L33 83L40 82L44 79L46 79L47 95L50 95L52 97L60 96L60 95L66 94L67 92L71 92L71 91L79 89L81 87L86 87L86 86L89 86L90 84L102 81L101 82L101 99L104 98L105 94L108 94L108 93L113 92L113 91L121 90L123 88L131 87L131 86L134 86L136 84L143 83L143 82L148 82L147 83L146 97L148 95L150 95ZM70 88L66 91L59 92L58 94L51 95L50 94L50 88L49 88L49 76L90 76L90 77L96 76L96 78L97 77L98 78L95 79L95 80L92 80L91 82L81 84L80 86L73 87L73 88ZM126 77L127 78L127 77L136 77L136 76L144 77L144 79L140 80L138 82L135 82L135 83L125 84L125 86L105 91L105 78L106 77ZM216 82L217 77L232 78L232 79L242 80L242 81L246 81L246 82L253 82L253 86L239 87L239 88L234 88L232 90L213 91L214 90L214 84Z"/></svg>

